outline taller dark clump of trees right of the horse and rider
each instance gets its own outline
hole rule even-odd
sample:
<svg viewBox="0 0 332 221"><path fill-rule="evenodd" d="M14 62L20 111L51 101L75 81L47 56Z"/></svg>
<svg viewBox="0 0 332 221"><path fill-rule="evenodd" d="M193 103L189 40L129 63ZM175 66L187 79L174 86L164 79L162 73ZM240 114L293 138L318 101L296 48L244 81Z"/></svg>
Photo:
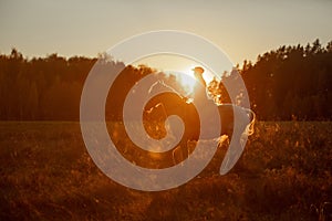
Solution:
<svg viewBox="0 0 332 221"><path fill-rule="evenodd" d="M237 69L259 119L332 119L332 41L325 48L319 40L305 46L283 45ZM231 75L209 85L219 103L229 102L222 84L228 77Z"/></svg>

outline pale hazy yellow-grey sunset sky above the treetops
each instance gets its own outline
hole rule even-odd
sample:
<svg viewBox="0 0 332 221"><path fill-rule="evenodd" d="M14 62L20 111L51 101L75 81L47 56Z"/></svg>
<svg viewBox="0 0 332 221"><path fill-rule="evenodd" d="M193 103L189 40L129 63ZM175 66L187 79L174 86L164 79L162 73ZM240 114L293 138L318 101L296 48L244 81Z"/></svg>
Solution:
<svg viewBox="0 0 332 221"><path fill-rule="evenodd" d="M0 0L0 53L96 56L153 30L196 33L235 63L284 44L332 40L332 1Z"/></svg>

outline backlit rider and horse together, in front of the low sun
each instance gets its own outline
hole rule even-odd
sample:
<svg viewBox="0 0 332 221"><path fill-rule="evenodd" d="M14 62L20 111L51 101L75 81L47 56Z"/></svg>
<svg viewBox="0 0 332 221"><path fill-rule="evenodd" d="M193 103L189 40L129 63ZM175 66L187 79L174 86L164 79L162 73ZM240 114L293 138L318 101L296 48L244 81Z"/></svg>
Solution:
<svg viewBox="0 0 332 221"><path fill-rule="evenodd" d="M203 77L204 69L200 66L196 66L193 71L197 80L197 85L194 90L194 103L204 105L207 112L209 112L210 109L208 108L208 106L218 107L220 122L222 124L220 137L222 135L227 135L229 138L232 136L235 129L234 117L236 114L237 117L240 118L239 119L240 125L239 127L237 127L238 130L234 139L236 140L235 144L237 146L243 148L243 145L241 144L241 139L243 138L243 136L249 136L253 133L253 124L256 118L253 112L232 104L221 104L221 105L215 104L212 99L209 99L206 93L207 84ZM174 102L175 99L177 99L177 102ZM185 135L179 146L177 146L173 150L173 160L175 164L177 162L175 158L183 160L190 155L193 149L188 147L188 143L191 140L197 141L200 133L199 119L197 118L197 115L194 115L195 106L191 103L187 103L185 101L186 98L181 97L179 94L159 94L153 101L151 101L146 106L147 117L158 116L162 117L162 120L165 120L167 116L170 116L173 114L178 114L179 116L181 116L183 120L185 122L185 125L189 126L189 129L185 131ZM209 115L210 113L205 113L205 114ZM211 122L210 124L214 123ZM204 139L218 138L211 135L212 133L206 133L203 138ZM175 156L176 154L178 155L177 157ZM232 159L229 160L230 160L229 164L232 164L231 162Z"/></svg>

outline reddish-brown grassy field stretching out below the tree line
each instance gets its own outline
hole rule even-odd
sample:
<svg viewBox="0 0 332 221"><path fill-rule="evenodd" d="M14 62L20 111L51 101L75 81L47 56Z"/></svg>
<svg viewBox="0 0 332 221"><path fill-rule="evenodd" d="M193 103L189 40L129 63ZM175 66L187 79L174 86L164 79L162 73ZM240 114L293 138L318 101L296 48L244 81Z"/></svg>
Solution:
<svg viewBox="0 0 332 221"><path fill-rule="evenodd" d="M0 220L317 220L332 201L332 123L258 123L226 176L225 154L168 191L122 187L93 164L79 123L0 123Z"/></svg>

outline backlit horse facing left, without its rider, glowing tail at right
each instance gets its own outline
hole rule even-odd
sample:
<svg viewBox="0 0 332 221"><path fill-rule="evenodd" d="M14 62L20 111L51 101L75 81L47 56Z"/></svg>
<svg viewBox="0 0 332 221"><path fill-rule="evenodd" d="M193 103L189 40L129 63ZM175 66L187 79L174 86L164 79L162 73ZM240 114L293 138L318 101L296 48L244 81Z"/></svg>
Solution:
<svg viewBox="0 0 332 221"><path fill-rule="evenodd" d="M163 82L157 82L154 87L168 87ZM165 119L170 115L179 116L185 125L185 131L183 139L173 149L173 162L174 165L183 161L189 157L193 152L193 141L198 141L199 138L204 139L220 139L224 136L228 138L232 137L235 144L243 148L242 140L253 134L253 126L256 122L255 113L245 107L240 107L234 104L215 104L211 99L206 102L204 106L217 107L219 119L221 123L221 129L219 137L211 137L209 134L204 137L199 137L200 134L200 120L199 114L187 97L181 96L178 93L164 92L154 96L145 106L144 118L151 122L165 123ZM235 116L238 118L237 127L235 127ZM165 126L165 125L163 125ZM163 127L162 126L162 127ZM237 133L234 133L237 129ZM178 159L178 160L177 160ZM231 164L231 162L230 162Z"/></svg>

